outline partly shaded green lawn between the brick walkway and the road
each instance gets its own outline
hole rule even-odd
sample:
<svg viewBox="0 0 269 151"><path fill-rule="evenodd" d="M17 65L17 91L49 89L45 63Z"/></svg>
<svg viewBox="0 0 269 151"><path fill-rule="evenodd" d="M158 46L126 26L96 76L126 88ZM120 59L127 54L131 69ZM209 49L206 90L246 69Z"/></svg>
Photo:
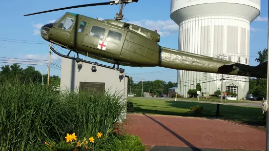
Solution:
<svg viewBox="0 0 269 151"><path fill-rule="evenodd" d="M135 113L151 113L180 116L216 117L217 104L197 102L181 102L159 99L129 98L134 105ZM191 106L202 106L202 113L188 113ZM259 116L262 109L255 107L241 107L231 105L220 105L219 117L221 119L242 121L249 125L262 125Z"/></svg>

